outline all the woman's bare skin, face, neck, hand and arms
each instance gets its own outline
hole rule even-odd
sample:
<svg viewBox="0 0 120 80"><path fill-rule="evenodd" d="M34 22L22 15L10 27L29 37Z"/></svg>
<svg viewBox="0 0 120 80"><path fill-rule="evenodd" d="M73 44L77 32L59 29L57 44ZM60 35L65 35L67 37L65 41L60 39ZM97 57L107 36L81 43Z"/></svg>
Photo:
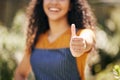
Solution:
<svg viewBox="0 0 120 80"><path fill-rule="evenodd" d="M68 24L67 13L70 10L70 0L44 0L43 8L45 14L48 16L50 26L48 35L49 42L54 42L62 33L71 27L70 50L72 55L74 57L80 57L84 52L92 48L94 33L89 29L84 29L81 34L77 36L75 24ZM27 80L30 71L30 54L26 53L16 69L14 79Z"/></svg>

